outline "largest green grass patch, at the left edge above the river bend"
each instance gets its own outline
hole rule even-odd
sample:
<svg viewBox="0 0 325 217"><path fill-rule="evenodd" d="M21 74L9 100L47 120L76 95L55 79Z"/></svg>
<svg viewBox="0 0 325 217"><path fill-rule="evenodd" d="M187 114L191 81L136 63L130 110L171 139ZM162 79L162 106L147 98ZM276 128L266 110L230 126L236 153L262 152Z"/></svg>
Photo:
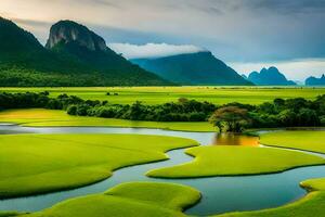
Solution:
<svg viewBox="0 0 325 217"><path fill-rule="evenodd" d="M0 136L0 199L86 186L117 168L166 159L164 152L192 145L197 142L140 135Z"/></svg>

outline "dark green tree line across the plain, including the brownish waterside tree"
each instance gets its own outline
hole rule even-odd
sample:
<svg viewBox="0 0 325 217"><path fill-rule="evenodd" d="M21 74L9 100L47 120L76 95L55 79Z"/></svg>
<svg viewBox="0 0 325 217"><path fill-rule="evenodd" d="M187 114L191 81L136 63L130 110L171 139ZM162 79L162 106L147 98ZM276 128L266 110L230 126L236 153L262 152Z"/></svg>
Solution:
<svg viewBox="0 0 325 217"><path fill-rule="evenodd" d="M242 103L216 105L184 98L178 102L157 105L147 105L139 101L123 105L83 100L67 94L51 98L47 91L0 93L0 110L27 107L64 110L69 115L131 120L210 122L223 131L242 131L244 128L325 126L325 94L315 100L275 99L260 105Z"/></svg>

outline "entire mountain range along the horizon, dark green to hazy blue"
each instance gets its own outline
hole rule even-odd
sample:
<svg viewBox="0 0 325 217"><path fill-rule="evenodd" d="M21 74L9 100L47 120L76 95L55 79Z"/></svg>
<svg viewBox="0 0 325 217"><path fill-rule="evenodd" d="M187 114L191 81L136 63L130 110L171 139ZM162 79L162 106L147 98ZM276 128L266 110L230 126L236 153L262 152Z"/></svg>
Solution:
<svg viewBox="0 0 325 217"><path fill-rule="evenodd" d="M276 67L240 76L209 51L126 60L86 26L60 21L43 47L15 23L0 17L0 87L58 86L294 86ZM325 85L325 76L306 85Z"/></svg>

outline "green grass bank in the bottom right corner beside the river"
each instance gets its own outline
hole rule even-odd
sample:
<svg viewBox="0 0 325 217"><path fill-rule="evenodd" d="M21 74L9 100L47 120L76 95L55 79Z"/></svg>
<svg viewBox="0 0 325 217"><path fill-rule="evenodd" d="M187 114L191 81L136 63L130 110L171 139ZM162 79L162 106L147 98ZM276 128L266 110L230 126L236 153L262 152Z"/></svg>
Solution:
<svg viewBox="0 0 325 217"><path fill-rule="evenodd" d="M301 186L311 191L301 200L277 208L256 212L231 213L218 217L316 217L325 213L325 179L303 181Z"/></svg>

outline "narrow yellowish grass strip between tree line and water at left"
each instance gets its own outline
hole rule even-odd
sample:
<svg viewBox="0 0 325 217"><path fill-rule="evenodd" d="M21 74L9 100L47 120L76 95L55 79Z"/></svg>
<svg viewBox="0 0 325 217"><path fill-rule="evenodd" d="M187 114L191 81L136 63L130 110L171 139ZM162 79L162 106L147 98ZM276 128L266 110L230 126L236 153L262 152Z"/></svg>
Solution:
<svg viewBox="0 0 325 217"><path fill-rule="evenodd" d="M208 122L199 123L162 123L162 122L134 122L114 118L80 117L67 115L56 110L9 110L0 112L0 123L15 123L29 127L64 127L64 126L103 126L103 127L140 127L159 128L182 131L216 131Z"/></svg>

